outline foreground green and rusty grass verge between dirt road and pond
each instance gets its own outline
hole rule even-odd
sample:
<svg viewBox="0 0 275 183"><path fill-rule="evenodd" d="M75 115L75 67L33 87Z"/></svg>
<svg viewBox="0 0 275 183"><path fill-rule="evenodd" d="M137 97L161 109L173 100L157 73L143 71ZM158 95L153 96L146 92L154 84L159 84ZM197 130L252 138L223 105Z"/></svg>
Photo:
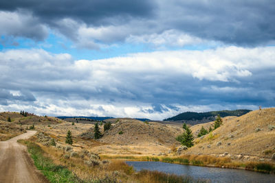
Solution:
<svg viewBox="0 0 275 183"><path fill-rule="evenodd" d="M158 171L135 172L133 167L122 160L111 160L108 164L87 167L80 158L64 160L61 158L63 153L58 149L40 146L34 141L20 140L19 143L27 145L35 166L50 182L206 182ZM58 163L61 164L58 165L56 160L60 160ZM157 159L152 158L150 160Z"/></svg>

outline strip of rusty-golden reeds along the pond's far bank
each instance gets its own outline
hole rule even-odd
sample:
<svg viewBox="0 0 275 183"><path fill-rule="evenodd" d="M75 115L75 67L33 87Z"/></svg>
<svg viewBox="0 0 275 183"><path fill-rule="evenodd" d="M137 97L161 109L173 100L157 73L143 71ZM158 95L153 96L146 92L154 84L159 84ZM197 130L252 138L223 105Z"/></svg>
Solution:
<svg viewBox="0 0 275 183"><path fill-rule="evenodd" d="M133 161L160 161L175 164L186 164L205 167L223 167L233 169L246 169L262 173L275 173L275 164L271 162L240 162L230 158L217 158L206 155L186 155L186 156L102 156L104 159L121 159Z"/></svg>

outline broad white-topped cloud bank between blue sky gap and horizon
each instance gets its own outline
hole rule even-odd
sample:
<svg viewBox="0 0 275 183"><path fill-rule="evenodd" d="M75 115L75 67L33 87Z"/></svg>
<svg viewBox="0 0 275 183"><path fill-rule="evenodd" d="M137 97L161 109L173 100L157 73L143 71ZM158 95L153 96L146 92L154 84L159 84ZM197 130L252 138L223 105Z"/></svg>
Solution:
<svg viewBox="0 0 275 183"><path fill-rule="evenodd" d="M164 119L183 110L274 106L274 47L155 51L73 60L0 52L0 109ZM8 105L8 106L7 106Z"/></svg>

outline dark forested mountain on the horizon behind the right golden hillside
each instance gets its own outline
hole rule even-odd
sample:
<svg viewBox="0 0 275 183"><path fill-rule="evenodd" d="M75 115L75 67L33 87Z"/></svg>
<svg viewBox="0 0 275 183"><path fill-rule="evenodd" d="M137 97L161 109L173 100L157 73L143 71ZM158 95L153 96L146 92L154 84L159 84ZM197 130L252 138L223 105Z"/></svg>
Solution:
<svg viewBox="0 0 275 183"><path fill-rule="evenodd" d="M190 122L197 121L196 123L206 123L212 121L214 117L218 114L221 117L228 116L237 116L240 117L243 114L250 112L251 110L241 109L241 110L219 110L219 111L210 111L210 112L184 112L181 114L177 114L175 117L170 117L168 119L164 119L164 121L182 121L182 122Z"/></svg>

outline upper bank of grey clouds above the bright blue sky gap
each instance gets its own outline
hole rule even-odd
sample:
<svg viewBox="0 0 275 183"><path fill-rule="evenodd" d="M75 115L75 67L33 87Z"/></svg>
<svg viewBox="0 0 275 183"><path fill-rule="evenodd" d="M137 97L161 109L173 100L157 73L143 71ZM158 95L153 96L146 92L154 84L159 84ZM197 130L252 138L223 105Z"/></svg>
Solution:
<svg viewBox="0 0 275 183"><path fill-rule="evenodd" d="M22 20L10 23L10 28L1 27L0 32L12 29L16 30L10 33L12 36L41 40L45 38L43 26L47 26L72 39L77 47L87 49L100 49L125 41L182 47L201 40L209 41L205 44L222 42L256 47L274 44L274 8L272 0L11 0L0 2L2 19L15 17L19 11L26 15L20 16ZM35 24L29 19L34 19ZM14 29L17 27L20 28L18 32Z"/></svg>

